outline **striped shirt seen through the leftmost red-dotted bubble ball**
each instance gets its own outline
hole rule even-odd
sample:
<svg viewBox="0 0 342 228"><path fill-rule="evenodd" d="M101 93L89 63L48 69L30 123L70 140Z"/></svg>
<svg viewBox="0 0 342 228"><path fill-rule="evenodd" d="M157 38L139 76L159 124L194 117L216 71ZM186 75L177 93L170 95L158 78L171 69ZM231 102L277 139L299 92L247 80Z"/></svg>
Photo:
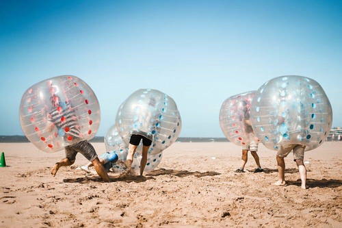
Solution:
<svg viewBox="0 0 342 228"><path fill-rule="evenodd" d="M81 137L81 131L77 127L77 117L72 110L70 104L66 104L64 109L57 107L49 113L49 121L51 121L58 129L62 129L66 134L74 137Z"/></svg>

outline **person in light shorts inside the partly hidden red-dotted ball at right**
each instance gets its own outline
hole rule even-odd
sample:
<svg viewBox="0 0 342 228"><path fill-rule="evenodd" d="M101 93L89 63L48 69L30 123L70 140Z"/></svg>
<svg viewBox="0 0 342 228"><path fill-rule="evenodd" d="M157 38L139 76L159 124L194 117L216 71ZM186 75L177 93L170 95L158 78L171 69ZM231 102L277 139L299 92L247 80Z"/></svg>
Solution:
<svg viewBox="0 0 342 228"><path fill-rule="evenodd" d="M257 154L258 151L258 142L254 139L252 125L250 123L250 107L247 101L241 101L241 105L243 107L241 115L239 116L239 121L244 121L244 130L246 134L248 134L250 138L250 144L246 144L242 147L242 163L241 167L235 170L236 173L244 173L244 168L248 160L248 151L254 157L255 163L257 164L257 168L254 170L254 173L263 172L263 168L261 168L259 156Z"/></svg>

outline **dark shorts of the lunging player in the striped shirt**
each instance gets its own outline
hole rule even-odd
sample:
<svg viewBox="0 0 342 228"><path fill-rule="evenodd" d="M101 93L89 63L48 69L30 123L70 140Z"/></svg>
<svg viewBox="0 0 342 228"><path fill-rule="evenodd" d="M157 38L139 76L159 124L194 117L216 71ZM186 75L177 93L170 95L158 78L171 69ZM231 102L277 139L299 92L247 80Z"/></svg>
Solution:
<svg viewBox="0 0 342 228"><path fill-rule="evenodd" d="M70 162L75 162L77 153L81 153L90 162L97 157L94 147L87 140L65 147L65 155Z"/></svg>

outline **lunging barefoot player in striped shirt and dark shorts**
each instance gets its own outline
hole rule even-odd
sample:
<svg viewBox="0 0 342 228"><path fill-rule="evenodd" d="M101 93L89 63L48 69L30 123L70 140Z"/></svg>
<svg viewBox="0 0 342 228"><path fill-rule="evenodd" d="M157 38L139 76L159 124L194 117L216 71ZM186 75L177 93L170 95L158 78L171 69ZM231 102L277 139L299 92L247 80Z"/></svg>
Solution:
<svg viewBox="0 0 342 228"><path fill-rule="evenodd" d="M49 112L48 119L48 130L53 131L53 129L57 129L57 135L64 136L69 141L76 141L81 137L81 132L77 127L77 121L75 113L73 112L70 103L67 101L63 102L60 97L55 95L53 90L53 86L51 85L51 105L52 112ZM53 166L51 170L51 175L55 177L57 171L62 166L70 166L74 164L77 153L81 153L84 157L86 157L92 164L96 170L96 173L104 180L110 181L107 172L105 172L105 168L101 164L100 160L98 160L96 151L92 144L87 140L82 140L81 142L77 142L75 144L71 144L65 147L66 157L60 162L57 162L55 166Z"/></svg>

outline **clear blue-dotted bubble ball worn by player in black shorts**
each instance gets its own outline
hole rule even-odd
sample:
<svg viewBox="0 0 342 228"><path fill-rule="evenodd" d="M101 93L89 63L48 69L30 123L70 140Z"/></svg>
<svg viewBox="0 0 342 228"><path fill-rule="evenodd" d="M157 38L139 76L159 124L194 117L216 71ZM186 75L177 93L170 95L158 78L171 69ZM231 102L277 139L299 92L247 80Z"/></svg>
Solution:
<svg viewBox="0 0 342 228"><path fill-rule="evenodd" d="M158 90L140 89L120 105L116 114L119 134L129 144L134 131L153 138L148 153L161 153L181 133L181 116L174 100Z"/></svg>

